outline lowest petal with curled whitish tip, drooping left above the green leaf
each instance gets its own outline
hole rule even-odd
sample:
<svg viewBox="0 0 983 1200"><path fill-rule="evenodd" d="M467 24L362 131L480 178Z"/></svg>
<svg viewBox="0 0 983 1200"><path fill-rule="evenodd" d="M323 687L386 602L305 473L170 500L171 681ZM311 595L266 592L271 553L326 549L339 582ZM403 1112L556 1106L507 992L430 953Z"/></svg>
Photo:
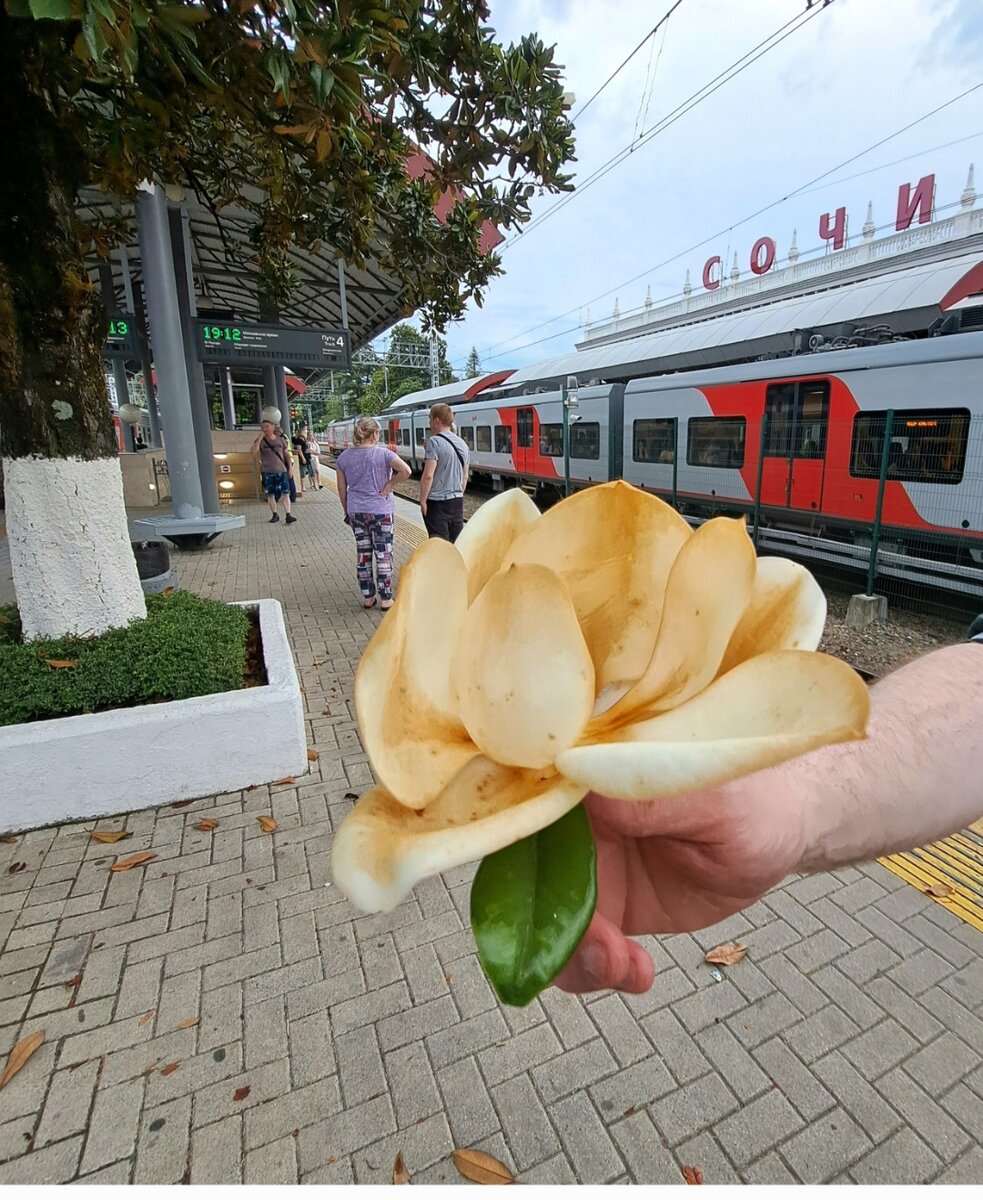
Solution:
<svg viewBox="0 0 983 1200"><path fill-rule="evenodd" d="M374 787L335 835L335 884L362 912L389 912L420 880L476 862L558 821L587 788L553 770L474 758L413 812Z"/></svg>

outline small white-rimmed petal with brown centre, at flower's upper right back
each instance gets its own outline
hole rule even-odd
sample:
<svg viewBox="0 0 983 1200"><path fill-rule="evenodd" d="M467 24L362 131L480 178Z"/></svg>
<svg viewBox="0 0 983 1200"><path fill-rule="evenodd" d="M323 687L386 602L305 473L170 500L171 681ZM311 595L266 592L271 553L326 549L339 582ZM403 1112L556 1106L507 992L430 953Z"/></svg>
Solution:
<svg viewBox="0 0 983 1200"><path fill-rule="evenodd" d="M768 650L814 650L826 625L826 596L787 558L759 558L751 600L727 644L719 674Z"/></svg>

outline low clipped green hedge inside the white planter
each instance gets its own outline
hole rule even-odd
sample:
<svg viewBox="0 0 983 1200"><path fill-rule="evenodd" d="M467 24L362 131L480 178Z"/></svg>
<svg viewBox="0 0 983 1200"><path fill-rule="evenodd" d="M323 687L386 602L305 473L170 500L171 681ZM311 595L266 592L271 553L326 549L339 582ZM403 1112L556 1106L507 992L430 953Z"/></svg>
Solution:
<svg viewBox="0 0 983 1200"><path fill-rule="evenodd" d="M0 608L0 725L233 691L248 626L244 608L174 592L148 596L146 620L126 629L20 642L16 610Z"/></svg>

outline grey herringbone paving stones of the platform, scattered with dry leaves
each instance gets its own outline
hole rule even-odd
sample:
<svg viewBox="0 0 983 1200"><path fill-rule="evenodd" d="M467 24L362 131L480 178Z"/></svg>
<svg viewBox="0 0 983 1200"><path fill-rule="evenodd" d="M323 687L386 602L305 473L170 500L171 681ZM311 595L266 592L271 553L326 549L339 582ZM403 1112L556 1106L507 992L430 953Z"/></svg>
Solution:
<svg viewBox="0 0 983 1200"><path fill-rule="evenodd" d="M649 940L643 996L525 1009L479 970L472 868L354 912L329 852L371 782L352 678L379 618L331 491L290 528L245 511L174 554L180 586L281 600L319 758L292 784L0 845L0 1055L44 1033L0 1091L0 1183L388 1182L397 1152L414 1182L450 1183L455 1146L537 1183L681 1183L689 1165L707 1183L983 1182L983 935L876 864ZM110 874L97 827L156 858ZM705 950L731 938L748 958L714 983Z"/></svg>

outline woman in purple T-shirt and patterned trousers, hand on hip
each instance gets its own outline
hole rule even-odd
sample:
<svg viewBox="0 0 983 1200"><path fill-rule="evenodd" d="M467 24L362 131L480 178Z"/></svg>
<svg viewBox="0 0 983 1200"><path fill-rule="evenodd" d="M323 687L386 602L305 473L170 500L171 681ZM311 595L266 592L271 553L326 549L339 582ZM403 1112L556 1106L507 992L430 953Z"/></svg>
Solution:
<svg viewBox="0 0 983 1200"><path fill-rule="evenodd" d="M379 422L371 416L355 421L354 445L335 463L338 499L352 526L356 547L356 574L362 608L392 607L392 488L409 479L402 458L379 445ZM374 577L372 559L376 560Z"/></svg>

